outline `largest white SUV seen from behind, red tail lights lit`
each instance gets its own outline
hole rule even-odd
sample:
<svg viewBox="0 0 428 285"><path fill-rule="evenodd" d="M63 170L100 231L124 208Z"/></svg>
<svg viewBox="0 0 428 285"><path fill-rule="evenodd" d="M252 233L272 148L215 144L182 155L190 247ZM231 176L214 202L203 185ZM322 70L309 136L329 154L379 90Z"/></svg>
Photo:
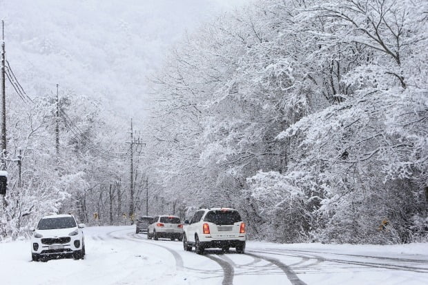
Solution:
<svg viewBox="0 0 428 285"><path fill-rule="evenodd" d="M184 250L195 246L197 254L205 248L236 248L237 253L245 252L245 223L240 214L232 208L206 208L197 210L191 222L184 222Z"/></svg>

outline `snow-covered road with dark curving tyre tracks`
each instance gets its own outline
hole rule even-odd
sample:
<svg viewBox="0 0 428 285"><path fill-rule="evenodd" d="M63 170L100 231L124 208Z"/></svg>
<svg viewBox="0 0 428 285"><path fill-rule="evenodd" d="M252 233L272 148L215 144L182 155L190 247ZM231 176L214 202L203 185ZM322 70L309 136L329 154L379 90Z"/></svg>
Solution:
<svg viewBox="0 0 428 285"><path fill-rule="evenodd" d="M28 241L0 244L1 284L427 284L428 244L248 242L246 254L183 250L133 226L85 228L86 259L30 262Z"/></svg>

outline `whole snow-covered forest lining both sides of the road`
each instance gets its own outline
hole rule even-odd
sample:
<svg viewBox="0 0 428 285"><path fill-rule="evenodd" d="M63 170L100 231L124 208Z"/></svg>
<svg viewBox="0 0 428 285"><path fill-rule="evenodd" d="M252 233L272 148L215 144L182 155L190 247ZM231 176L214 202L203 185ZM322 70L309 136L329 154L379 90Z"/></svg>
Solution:
<svg viewBox="0 0 428 285"><path fill-rule="evenodd" d="M22 175L9 159L0 239L49 211L130 224L147 198L148 215L237 208L251 239L427 241L427 1L254 1L187 35L150 95L134 148L101 99L11 102Z"/></svg>

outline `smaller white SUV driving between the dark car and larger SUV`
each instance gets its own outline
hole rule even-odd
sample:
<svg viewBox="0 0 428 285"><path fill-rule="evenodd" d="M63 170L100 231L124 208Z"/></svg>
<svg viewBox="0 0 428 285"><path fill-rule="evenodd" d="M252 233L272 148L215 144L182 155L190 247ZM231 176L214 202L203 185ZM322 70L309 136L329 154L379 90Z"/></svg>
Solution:
<svg viewBox="0 0 428 285"><path fill-rule="evenodd" d="M171 240L183 238L183 225L179 217L176 216L156 216L152 224L148 225L147 238L157 240L159 237L166 237Z"/></svg>

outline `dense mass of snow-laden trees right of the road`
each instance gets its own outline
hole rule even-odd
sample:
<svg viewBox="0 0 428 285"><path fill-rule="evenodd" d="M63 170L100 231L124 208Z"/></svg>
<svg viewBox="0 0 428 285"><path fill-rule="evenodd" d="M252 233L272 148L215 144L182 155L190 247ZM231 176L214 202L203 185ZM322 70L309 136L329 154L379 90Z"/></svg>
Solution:
<svg viewBox="0 0 428 285"><path fill-rule="evenodd" d="M277 241L426 234L426 10L266 0L188 37L154 79L159 191Z"/></svg>

